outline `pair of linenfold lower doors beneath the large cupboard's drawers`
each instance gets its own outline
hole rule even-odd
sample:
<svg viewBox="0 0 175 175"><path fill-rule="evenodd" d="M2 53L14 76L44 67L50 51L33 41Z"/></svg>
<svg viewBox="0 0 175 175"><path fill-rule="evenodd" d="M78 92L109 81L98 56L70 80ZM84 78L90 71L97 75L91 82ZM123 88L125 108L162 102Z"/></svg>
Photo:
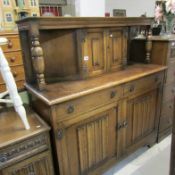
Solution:
<svg viewBox="0 0 175 175"><path fill-rule="evenodd" d="M57 134L61 174L100 174L111 159L117 161L130 149L156 143L158 94L159 88L79 116L76 122L63 121L62 126L68 126Z"/></svg>

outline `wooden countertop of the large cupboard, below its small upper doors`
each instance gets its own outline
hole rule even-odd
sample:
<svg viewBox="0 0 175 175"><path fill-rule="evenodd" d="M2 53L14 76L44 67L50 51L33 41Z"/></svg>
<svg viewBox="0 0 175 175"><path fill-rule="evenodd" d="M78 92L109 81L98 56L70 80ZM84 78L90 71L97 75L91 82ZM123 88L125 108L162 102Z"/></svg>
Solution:
<svg viewBox="0 0 175 175"><path fill-rule="evenodd" d="M166 66L153 64L135 64L128 66L125 70L105 74L88 80L47 84L44 91L38 91L35 87L32 87L29 84L26 84L26 88L48 105L54 105L83 95L88 95L99 90L124 84L129 81L163 71L166 68Z"/></svg>

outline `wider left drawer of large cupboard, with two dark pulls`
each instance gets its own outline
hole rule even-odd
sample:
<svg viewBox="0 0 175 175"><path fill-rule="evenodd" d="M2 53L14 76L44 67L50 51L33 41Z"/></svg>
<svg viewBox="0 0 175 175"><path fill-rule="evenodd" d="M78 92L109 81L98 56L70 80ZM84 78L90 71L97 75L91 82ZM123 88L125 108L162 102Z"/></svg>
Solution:
<svg viewBox="0 0 175 175"><path fill-rule="evenodd" d="M117 86L59 104L56 106L57 119L80 115L85 111L88 112L105 104L115 102L122 96L123 88L122 86Z"/></svg>

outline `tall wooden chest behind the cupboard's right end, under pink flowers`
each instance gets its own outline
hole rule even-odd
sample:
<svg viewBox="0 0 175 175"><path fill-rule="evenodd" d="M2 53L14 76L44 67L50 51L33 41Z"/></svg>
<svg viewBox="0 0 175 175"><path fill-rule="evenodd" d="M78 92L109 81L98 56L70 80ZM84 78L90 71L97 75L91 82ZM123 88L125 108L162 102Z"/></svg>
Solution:
<svg viewBox="0 0 175 175"><path fill-rule="evenodd" d="M151 59L152 64L165 65L168 67L162 99L162 110L160 116L158 140L161 141L171 133L172 120L174 116L174 94L175 94L175 36L152 36ZM144 62L145 39L135 39L131 44L132 62Z"/></svg>

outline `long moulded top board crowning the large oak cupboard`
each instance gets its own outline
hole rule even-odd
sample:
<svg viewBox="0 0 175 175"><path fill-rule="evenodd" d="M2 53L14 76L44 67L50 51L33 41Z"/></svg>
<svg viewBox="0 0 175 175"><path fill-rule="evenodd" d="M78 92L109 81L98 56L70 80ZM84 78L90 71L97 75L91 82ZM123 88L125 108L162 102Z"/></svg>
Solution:
<svg viewBox="0 0 175 175"><path fill-rule="evenodd" d="M142 17L29 17L17 21L19 30L30 30L37 24L39 29L66 29L88 27L117 27L151 25L153 18Z"/></svg>

